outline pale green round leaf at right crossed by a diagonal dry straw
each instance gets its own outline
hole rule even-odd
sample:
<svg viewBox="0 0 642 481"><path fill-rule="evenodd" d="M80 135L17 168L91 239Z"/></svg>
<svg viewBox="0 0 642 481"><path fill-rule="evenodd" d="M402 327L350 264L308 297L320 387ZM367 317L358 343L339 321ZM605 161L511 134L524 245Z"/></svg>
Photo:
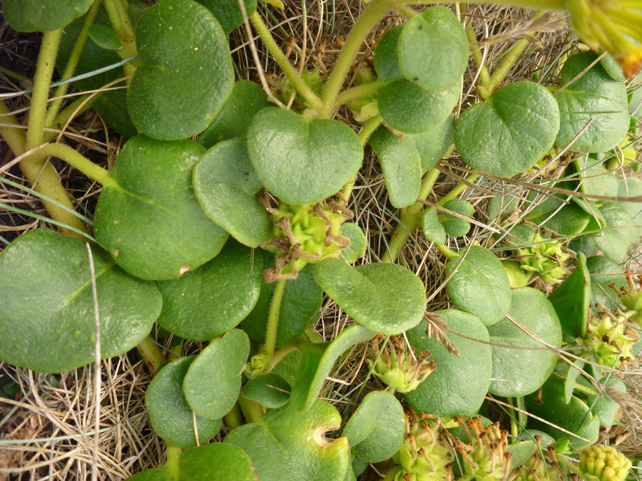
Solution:
<svg viewBox="0 0 642 481"><path fill-rule="evenodd" d="M553 305L536 289L524 287L512 293L509 315L546 343L559 348L562 336ZM551 349L531 338L509 319L489 326L492 346L493 381L489 393L520 396L531 393L548 378L557 361ZM522 349L526 348L526 349Z"/></svg>

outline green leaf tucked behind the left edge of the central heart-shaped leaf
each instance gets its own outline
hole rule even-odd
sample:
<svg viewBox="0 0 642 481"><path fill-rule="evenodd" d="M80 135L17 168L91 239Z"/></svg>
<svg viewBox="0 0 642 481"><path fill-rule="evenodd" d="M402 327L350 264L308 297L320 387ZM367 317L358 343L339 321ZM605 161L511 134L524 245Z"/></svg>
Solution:
<svg viewBox="0 0 642 481"><path fill-rule="evenodd" d="M258 200L263 185L245 140L226 140L205 152L194 167L192 183L205 214L238 242L259 247L270 236L270 216Z"/></svg>

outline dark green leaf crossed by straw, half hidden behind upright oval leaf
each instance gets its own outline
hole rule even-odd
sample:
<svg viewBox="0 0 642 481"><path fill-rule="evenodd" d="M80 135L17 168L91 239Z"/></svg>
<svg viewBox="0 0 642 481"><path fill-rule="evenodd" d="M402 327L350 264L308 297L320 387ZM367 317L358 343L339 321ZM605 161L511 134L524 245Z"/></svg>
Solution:
<svg viewBox="0 0 642 481"><path fill-rule="evenodd" d="M145 395L152 428L161 438L179 448L193 448L194 414L183 393L183 380L196 356L166 364L153 378ZM207 443L220 429L220 419L196 416L198 442Z"/></svg>

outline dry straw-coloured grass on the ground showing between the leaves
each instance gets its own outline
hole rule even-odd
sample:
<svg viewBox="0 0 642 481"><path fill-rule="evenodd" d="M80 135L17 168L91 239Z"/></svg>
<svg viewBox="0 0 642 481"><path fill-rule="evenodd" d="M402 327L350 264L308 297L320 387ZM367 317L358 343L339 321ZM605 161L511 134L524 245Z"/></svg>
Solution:
<svg viewBox="0 0 642 481"><path fill-rule="evenodd" d="M277 43L289 51L290 60L299 69L319 67L322 72L331 68L363 4L357 0L307 2L307 11L302 11L301 2L287 1L285 11L270 9L273 18L266 23L272 26ZM477 48L486 66L492 66L508 48L521 38L532 43L527 54L506 77L507 82L531 79L535 73L544 76L544 83L553 83L559 71L561 53L574 51L572 34L566 27L564 16L547 14L529 21L530 13L520 9L499 6L477 5L469 10L457 10L462 21L472 26L478 40ZM362 48L357 63L367 62L383 31L397 24L397 16L388 16L379 29L372 32ZM33 72L34 51L37 36L15 36L3 24L0 26L0 56L16 59L11 63L14 70L24 63L24 72ZM247 38L238 29L230 36L233 56L238 68L238 78L258 81L257 68L261 68L273 84L280 80L280 73L267 56L260 41L257 48L262 65L256 66L248 48ZM30 70L31 68L31 70ZM479 74L473 62L464 75L464 88L457 111L477 102L475 87ZM282 78L281 78L282 80ZM352 79L349 79L351 82ZM3 92L18 91L28 86L0 73L0 88ZM9 107L19 111L28 105L29 99L17 97ZM21 114L19 114L21 118ZM350 123L347 110L339 118ZM103 164L111 167L122 140L113 137L97 115L87 114L75 120L63 136L71 145L78 145L81 153L93 158L102 158ZM17 167L11 164L11 155L6 145L0 144L0 159L4 159L1 173L4 177L23 183ZM107 160L105 160L107 159ZM457 155L451 155L442 167L431 197L437 202L452 187L467 177ZM92 212L100 188L85 178L60 165L61 177L66 187ZM7 185L0 185L0 202L11 203L34 214L46 215L41 204L24 192ZM531 188L538 188L531 185ZM492 195L503 194L523 200L527 187L515 185L509 180L482 177L474 187L463 192L460 198L469 200L476 208L476 224L471 232L459 239L449 239L448 247L457 251L472 242L491 247L494 240L492 229L501 229L496 219L486 215L487 204ZM544 200L544 197L542 197ZM397 210L387 202L384 181L379 163L367 150L364 167L359 172L352 197L351 208L355 221L362 227L369 241L369 248L362 262L377 262L387 255L387 239L397 225ZM29 216L0 212L0 236L11 240L16 234L38 227L41 222ZM515 219L518 222L519 219ZM419 233L412 234L402 250L402 261L424 280L429 298L429 311L449 307L444 289L444 259L437 249L427 243ZM631 270L642 271L639 259L631 264ZM352 320L332 301L327 300L322 308L315 331L326 341L352 323ZM169 342L169 340L165 340ZM195 349L190 344L185 347ZM355 346L344 357L345 361L331 373L322 397L334 403L342 413L352 410L366 393L382 388L368 376L365 362L367 346ZM86 480L91 477L93 455L98 450L98 479L121 480L148 467L164 462L163 442L158 439L148 423L143 403L151 377L141 361L133 353L103 361L101 366L101 404L93 403L95 397L93 366L64 373L60 376L45 376L0 363L2 376L9 376L19 387L14 400L0 398L0 481L2 480ZM630 391L619 400L623 405L622 423L631 435L622 441L627 454L642 452L642 369L632 369L624 375ZM100 443L93 442L93 422L96 410L100 417ZM223 431L224 432L224 431ZM613 441L617 433L613 434Z"/></svg>

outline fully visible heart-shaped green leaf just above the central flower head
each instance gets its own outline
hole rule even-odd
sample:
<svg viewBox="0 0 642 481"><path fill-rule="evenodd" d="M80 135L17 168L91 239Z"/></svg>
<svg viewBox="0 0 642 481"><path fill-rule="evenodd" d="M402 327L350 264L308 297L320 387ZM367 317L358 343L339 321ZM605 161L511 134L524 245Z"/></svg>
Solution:
<svg viewBox="0 0 642 481"><path fill-rule="evenodd" d="M361 167L357 134L338 120L265 108L248 130L248 151L265 188L288 204L334 195Z"/></svg>

